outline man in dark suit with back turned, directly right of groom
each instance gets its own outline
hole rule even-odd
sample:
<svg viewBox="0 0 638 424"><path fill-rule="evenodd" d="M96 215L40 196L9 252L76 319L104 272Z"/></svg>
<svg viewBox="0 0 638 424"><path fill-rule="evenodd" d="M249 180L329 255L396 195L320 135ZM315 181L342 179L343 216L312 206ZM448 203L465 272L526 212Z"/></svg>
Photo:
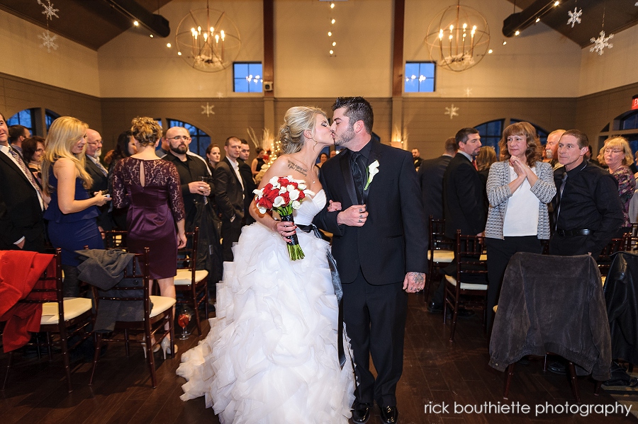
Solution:
<svg viewBox="0 0 638 424"><path fill-rule="evenodd" d="M443 154L435 159L422 161L418 176L421 185L421 197L425 208L425 219L443 219L443 175L449 161L457 154L457 140L449 137L445 140Z"/></svg>

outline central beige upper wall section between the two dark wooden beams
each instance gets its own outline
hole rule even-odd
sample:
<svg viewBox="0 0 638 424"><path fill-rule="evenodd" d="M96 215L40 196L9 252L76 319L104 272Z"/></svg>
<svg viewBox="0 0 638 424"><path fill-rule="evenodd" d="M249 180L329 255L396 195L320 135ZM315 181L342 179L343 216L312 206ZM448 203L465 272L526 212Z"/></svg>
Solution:
<svg viewBox="0 0 638 424"><path fill-rule="evenodd" d="M274 95L391 96L392 4L337 1L330 13L327 1L276 0Z"/></svg>

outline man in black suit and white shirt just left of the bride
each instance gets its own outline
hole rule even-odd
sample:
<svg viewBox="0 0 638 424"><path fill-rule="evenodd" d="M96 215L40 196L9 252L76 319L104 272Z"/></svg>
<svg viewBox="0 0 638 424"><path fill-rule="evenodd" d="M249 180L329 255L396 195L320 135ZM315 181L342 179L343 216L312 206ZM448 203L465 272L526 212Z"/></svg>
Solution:
<svg viewBox="0 0 638 424"><path fill-rule="evenodd" d="M244 219L244 184L237 162L241 145L237 137L226 139L226 156L217 164L213 175L215 200L222 214L222 248L227 261L233 260L233 243L239 240Z"/></svg>

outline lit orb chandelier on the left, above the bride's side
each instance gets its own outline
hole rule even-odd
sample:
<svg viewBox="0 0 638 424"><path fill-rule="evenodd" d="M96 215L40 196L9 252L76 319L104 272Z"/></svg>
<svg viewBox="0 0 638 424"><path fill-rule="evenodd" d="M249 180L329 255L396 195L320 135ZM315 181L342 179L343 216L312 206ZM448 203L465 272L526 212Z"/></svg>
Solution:
<svg viewBox="0 0 638 424"><path fill-rule="evenodd" d="M177 55L203 72L223 71L237 59L242 38L224 11L197 8L181 18L175 32Z"/></svg>

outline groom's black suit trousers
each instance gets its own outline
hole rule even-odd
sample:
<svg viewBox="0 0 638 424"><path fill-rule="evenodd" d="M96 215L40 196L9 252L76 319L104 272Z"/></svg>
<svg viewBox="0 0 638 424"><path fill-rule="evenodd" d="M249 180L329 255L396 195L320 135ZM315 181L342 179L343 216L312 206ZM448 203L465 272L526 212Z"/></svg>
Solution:
<svg viewBox="0 0 638 424"><path fill-rule="evenodd" d="M403 372L403 333L408 294L403 282L371 285L361 269L354 282L343 285L343 320L354 352L357 401L396 406L396 384ZM370 372L370 355L378 370Z"/></svg>

